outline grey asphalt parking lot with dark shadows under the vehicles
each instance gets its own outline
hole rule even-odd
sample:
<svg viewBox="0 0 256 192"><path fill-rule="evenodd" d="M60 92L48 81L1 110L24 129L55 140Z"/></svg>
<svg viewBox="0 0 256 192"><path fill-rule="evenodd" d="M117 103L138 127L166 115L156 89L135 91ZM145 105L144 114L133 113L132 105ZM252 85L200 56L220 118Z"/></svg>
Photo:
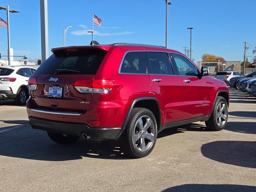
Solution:
<svg viewBox="0 0 256 192"><path fill-rule="evenodd" d="M25 106L0 101L0 191L256 191L256 98L230 88L228 124L158 134L153 152L125 156L116 141L52 142Z"/></svg>

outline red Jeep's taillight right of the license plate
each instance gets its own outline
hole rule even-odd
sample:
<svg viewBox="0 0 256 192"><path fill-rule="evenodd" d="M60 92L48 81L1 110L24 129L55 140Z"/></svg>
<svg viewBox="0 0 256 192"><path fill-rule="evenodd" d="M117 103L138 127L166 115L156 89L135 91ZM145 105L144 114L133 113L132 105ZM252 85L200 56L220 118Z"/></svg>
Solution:
<svg viewBox="0 0 256 192"><path fill-rule="evenodd" d="M115 83L114 79L78 79L74 87L81 93L109 93Z"/></svg>

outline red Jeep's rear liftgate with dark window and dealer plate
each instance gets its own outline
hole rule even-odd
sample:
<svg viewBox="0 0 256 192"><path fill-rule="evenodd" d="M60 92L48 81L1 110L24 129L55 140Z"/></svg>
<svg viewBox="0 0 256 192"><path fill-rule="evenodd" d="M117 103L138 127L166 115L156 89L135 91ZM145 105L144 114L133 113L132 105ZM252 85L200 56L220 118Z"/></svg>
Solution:
<svg viewBox="0 0 256 192"><path fill-rule="evenodd" d="M85 113L92 100L92 79L107 51L61 48L53 52L29 80L31 90L35 89L32 107Z"/></svg>

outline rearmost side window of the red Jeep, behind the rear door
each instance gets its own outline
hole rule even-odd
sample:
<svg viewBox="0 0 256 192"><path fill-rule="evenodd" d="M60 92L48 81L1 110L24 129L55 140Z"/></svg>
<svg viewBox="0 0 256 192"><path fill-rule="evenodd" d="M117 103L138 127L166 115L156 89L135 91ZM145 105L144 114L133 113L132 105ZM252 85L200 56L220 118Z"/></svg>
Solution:
<svg viewBox="0 0 256 192"><path fill-rule="evenodd" d="M122 73L146 73L146 52L128 52L122 62Z"/></svg>

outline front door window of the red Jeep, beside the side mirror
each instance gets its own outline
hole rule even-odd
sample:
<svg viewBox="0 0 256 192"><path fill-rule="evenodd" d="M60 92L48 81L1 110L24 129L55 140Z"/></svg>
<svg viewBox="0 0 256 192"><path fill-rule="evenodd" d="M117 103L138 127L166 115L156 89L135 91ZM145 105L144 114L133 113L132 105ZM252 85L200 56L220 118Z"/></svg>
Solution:
<svg viewBox="0 0 256 192"><path fill-rule="evenodd" d="M198 74L198 69L184 56L178 54L172 54L176 66L180 75L182 76L196 76Z"/></svg>

